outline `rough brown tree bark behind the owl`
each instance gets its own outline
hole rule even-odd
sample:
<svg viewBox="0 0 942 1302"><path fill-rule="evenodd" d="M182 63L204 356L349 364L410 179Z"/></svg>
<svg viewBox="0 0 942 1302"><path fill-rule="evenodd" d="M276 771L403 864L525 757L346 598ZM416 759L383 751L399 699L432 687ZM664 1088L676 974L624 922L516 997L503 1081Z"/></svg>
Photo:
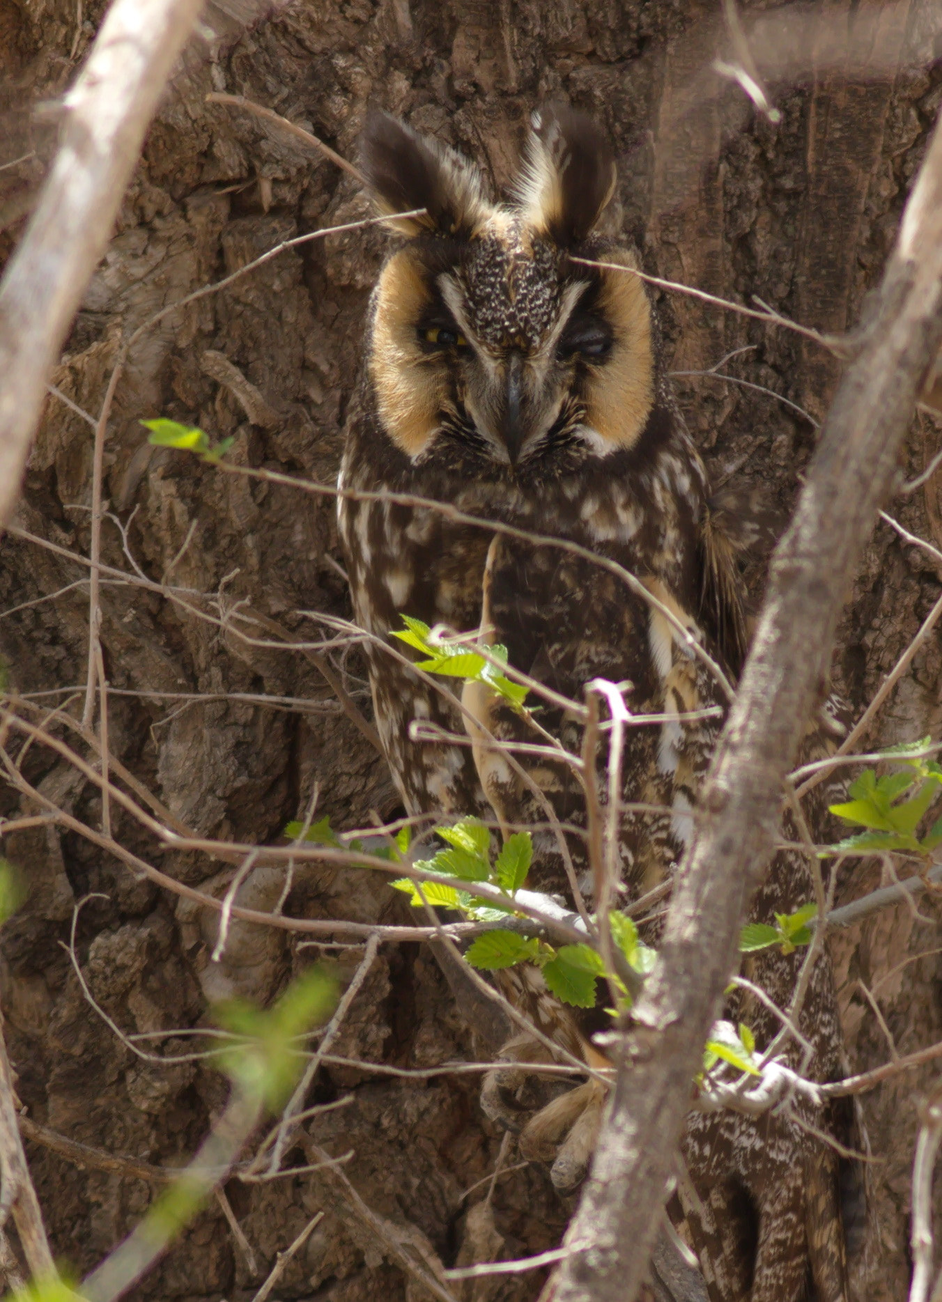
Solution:
<svg viewBox="0 0 942 1302"><path fill-rule="evenodd" d="M103 9L0 0L0 165L14 164L0 171L4 258L56 145L48 104L73 81ZM649 270L741 302L757 294L822 331L848 328L878 283L942 102L938 7L827 0L744 5L743 14L782 113L777 124L711 72L713 59L730 49L717 7L693 0L207 7L207 30L186 49L162 102L53 384L96 415L121 340L156 311L284 238L367 215L349 176L242 111L207 105L214 91L266 104L347 158L356 156L366 105L377 100L481 159L498 186L530 109L569 100L611 134L625 224ZM240 465L331 482L383 240L366 229L301 246L164 318L136 344L115 393L102 559L130 568L117 521L147 577L176 591L171 599L102 583L111 749L173 816L205 835L275 840L288 819L304 815L315 788L318 816L330 814L339 828L366 825L371 810L384 816L396 801L317 664L271 635L274 621L281 642L311 642L322 629L301 612L348 612L332 504L152 449L138 421L163 414L198 423L214 439L235 436ZM676 371L704 371L749 346L723 374L792 404L717 375L676 380L714 478L735 474L762 486L784 517L816 445L813 422L836 389L838 363L810 342L702 303L663 296L661 305ZM902 461L906 478L929 465L939 434L933 417L917 417ZM87 422L50 397L27 466L21 530L89 555L91 453ZM890 512L942 546L942 474L898 497ZM0 546L0 650L12 685L25 697L48 693L34 703L51 710L69 699L63 689L85 687L87 572L22 535ZM764 569L757 556L757 595ZM937 600L939 578L932 555L878 527L836 634L835 685L857 712ZM240 624L237 603L264 618L267 631ZM240 635L246 631L251 641ZM334 663L356 703L369 708L356 655L335 652ZM938 740L941 687L933 637L877 716L869 745L926 733ZM51 751L33 746L23 772L46 798L100 827L94 785ZM0 812L34 810L5 790ZM218 896L232 880L227 865L156 848L120 811L111 818L132 850L178 880ZM224 1085L202 1062L136 1056L91 1009L59 945L68 941L76 901L89 892L106 897L82 907L77 960L94 997L128 1032L185 1031L227 992L267 1000L313 956L349 979L362 950L300 950L283 934L236 923L224 961L212 963L214 918L136 879L73 832L23 827L7 838L5 853L30 884L0 934L0 1000L31 1118L30 1167L53 1251L86 1272L152 1199L159 1185L146 1178L147 1164L175 1165L197 1150ZM879 872L866 862L848 871L842 901L879 884ZM270 909L283 884L280 870L259 868L240 902ZM392 896L365 872L307 867L297 870L285 910L408 921ZM919 914L899 905L833 939L855 1070L890 1053L861 982L900 1053L941 1038L935 917L934 902L922 900ZM190 1040L141 1046L180 1057ZM469 1059L476 1044L427 948L384 945L332 1052L416 1070ZM917 1104L934 1075L929 1064L864 1098L882 1163L856 1288L876 1302L906 1295ZM267 1185L229 1181L250 1253L212 1204L134 1295L251 1298L276 1254L319 1210L326 1216L285 1266L279 1297L418 1299L427 1293L404 1258L422 1262L431 1253L465 1264L559 1242L568 1210L541 1168L511 1169L517 1159L509 1157L486 1200L500 1137L479 1113L474 1077L395 1078L323 1065L313 1101L348 1094L352 1101L315 1118L291 1155L301 1165L352 1150L347 1186L317 1172ZM108 1165L94 1150L136 1165ZM541 1271L453 1290L469 1302L522 1302L545 1279Z"/></svg>

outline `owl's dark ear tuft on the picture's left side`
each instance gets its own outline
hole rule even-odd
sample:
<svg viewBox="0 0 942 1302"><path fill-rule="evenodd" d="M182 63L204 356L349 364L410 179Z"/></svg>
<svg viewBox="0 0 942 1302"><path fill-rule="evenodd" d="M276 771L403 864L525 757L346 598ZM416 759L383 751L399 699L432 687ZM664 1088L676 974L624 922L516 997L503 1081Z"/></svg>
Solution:
<svg viewBox="0 0 942 1302"><path fill-rule="evenodd" d="M361 167L384 216L425 208L420 217L391 221L403 234L433 230L468 237L490 211L481 173L472 163L379 109L366 120Z"/></svg>

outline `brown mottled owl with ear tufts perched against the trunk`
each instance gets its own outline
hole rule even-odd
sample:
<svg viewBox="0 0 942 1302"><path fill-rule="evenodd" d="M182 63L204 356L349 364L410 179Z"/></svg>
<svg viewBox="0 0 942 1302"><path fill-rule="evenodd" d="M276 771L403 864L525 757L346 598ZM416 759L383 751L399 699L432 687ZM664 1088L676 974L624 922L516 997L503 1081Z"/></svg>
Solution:
<svg viewBox="0 0 942 1302"><path fill-rule="evenodd" d="M590 120L534 115L503 202L472 163L383 113L367 121L362 169L400 238L370 301L339 526L392 776L410 814L530 828L528 887L571 907L578 894L590 910L584 777L571 762L585 712L568 703L594 680L618 685L632 715L657 716L627 729L614 884L627 905L675 872L692 833L727 704L722 678L745 650L736 552L748 529L711 496L671 396L657 316L619 227L614 156ZM403 615L500 643L545 689L539 708L417 673L391 637ZM606 755L602 745L602 792ZM809 898L801 857L780 854L754 907L767 919ZM800 958L758 956L749 976L787 1006ZM555 1043L603 1061L592 1042L603 1009L554 1000L535 967L498 979ZM779 1029L754 999L731 1014L752 1022L760 1046ZM801 1026L812 1074L843 1074L826 960ZM585 1174L605 1091L589 1078L547 1095L515 1065L546 1057L539 1039L515 1036L482 1103L525 1154L551 1160L568 1193ZM842 1302L833 1148L790 1116L692 1113L684 1156L692 1193L671 1212L711 1302Z"/></svg>

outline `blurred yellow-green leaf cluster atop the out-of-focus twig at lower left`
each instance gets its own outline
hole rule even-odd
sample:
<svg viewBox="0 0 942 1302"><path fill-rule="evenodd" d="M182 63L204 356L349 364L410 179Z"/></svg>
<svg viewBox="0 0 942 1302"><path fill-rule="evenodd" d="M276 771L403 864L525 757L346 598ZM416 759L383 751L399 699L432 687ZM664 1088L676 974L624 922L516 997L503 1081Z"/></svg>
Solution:
<svg viewBox="0 0 942 1302"><path fill-rule="evenodd" d="M241 1040L215 1055L220 1070L276 1112L304 1066L292 1042L326 1021L335 1005L336 982L317 967L293 980L267 1012L238 999L215 1005L216 1022Z"/></svg>

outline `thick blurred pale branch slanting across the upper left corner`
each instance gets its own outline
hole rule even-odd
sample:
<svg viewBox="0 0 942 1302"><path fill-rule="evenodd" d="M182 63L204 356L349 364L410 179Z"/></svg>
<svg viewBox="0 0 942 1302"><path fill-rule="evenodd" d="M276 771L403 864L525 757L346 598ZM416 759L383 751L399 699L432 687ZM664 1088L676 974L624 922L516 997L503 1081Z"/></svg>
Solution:
<svg viewBox="0 0 942 1302"><path fill-rule="evenodd" d="M115 0L65 96L59 151L0 284L0 523L20 492L46 381L202 0Z"/></svg>

